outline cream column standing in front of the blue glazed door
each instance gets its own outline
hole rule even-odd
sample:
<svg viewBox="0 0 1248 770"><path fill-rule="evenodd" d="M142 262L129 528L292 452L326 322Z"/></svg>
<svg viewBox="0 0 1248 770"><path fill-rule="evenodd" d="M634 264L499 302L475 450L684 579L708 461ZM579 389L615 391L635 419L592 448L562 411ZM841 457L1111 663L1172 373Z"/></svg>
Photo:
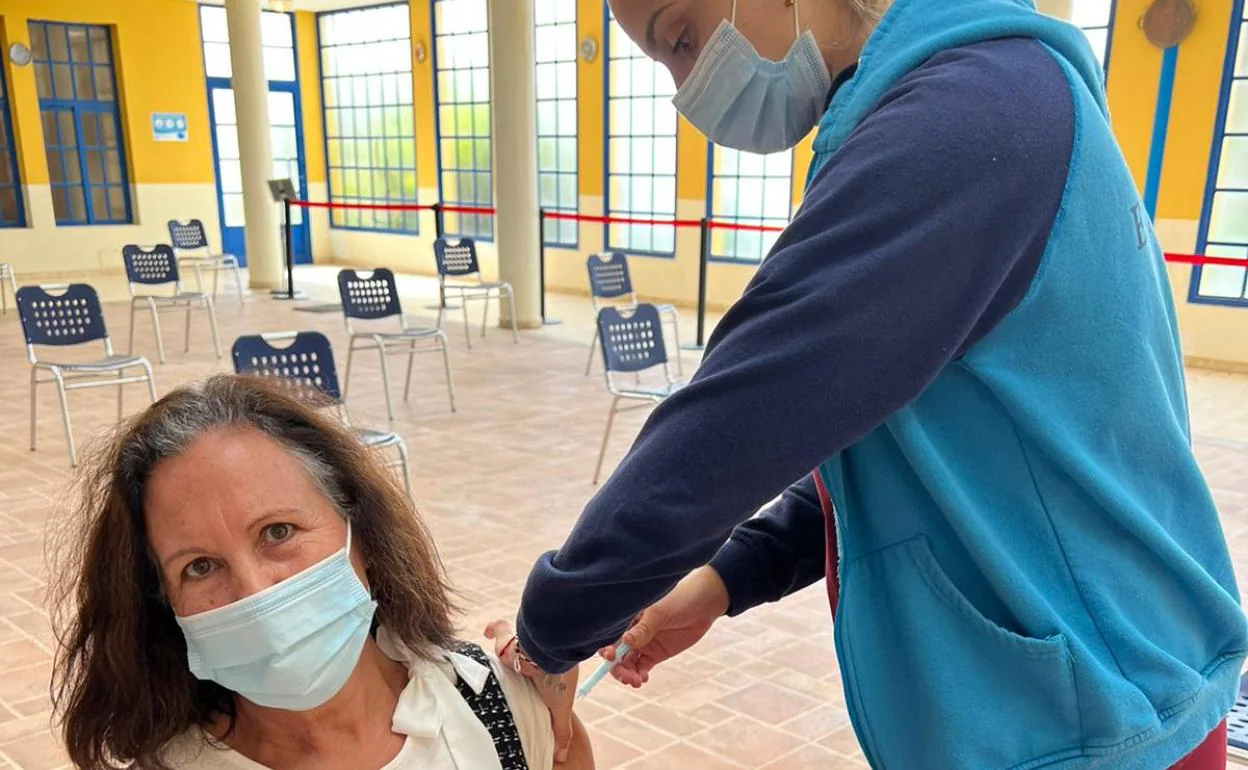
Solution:
<svg viewBox="0 0 1248 770"><path fill-rule="evenodd" d="M226 0L231 82L238 112L242 206L247 220L247 273L252 288L283 285L281 215L268 192L273 151L268 144L268 81L260 32L262 0Z"/></svg>

